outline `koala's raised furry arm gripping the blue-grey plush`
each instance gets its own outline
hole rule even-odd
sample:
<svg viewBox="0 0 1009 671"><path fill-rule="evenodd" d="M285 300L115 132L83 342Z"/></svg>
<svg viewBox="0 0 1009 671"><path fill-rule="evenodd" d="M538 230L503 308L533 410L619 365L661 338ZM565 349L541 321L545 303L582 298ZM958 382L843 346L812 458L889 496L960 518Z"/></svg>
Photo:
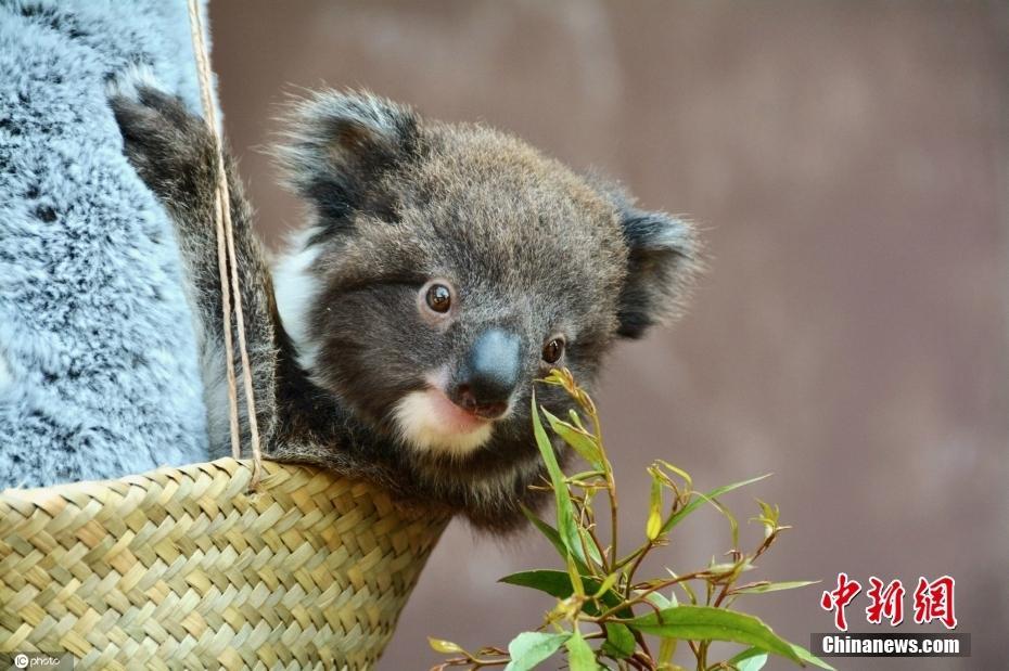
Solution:
<svg viewBox="0 0 1009 671"><path fill-rule="evenodd" d="M175 225L202 331L199 336L212 453L222 456L230 452L230 439L215 225L219 176L216 140L206 122L191 114L181 100L151 86L139 85L131 94L113 92L110 103L123 132L127 158ZM252 229L252 208L230 156L226 156L226 171L256 418L264 449L269 450L276 426L277 308L263 247ZM232 340L237 349L237 335ZM235 371L241 371L238 354ZM242 434L247 438L247 409L241 391L239 407Z"/></svg>

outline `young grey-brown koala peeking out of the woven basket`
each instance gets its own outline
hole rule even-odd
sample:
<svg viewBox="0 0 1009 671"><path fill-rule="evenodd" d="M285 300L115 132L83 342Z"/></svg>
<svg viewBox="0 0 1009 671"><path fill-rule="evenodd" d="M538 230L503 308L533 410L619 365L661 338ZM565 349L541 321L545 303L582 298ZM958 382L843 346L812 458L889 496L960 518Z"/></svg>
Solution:
<svg viewBox="0 0 1009 671"><path fill-rule="evenodd" d="M206 385L219 390L215 139L155 87L111 104L126 156L175 223ZM676 315L698 268L692 227L511 136L370 93L310 93L283 127L276 156L308 207L272 263L226 159L265 453L370 479L478 529L520 527L521 506L546 496L531 488L547 477L535 380L566 366L591 389L617 340ZM566 411L552 386L536 400ZM208 403L223 454L227 401Z"/></svg>

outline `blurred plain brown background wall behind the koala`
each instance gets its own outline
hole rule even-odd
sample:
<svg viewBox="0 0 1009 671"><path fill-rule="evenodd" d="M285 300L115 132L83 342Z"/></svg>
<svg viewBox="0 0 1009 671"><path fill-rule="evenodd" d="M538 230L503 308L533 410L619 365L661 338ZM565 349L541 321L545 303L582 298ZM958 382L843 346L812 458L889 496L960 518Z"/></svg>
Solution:
<svg viewBox="0 0 1009 671"><path fill-rule="evenodd" d="M847 571L909 591L919 575L957 579L972 658L839 668L1006 668L1004 5L210 5L227 131L271 241L298 208L253 147L284 91L323 80L509 129L699 221L712 261L692 312L622 346L598 395L628 528L643 520L653 457L704 488L774 472L727 499L741 517L754 495L777 502L795 526L754 579L830 584ZM666 556L693 568L728 546L712 513ZM450 528L381 669L429 668L426 635L475 648L535 625L549 601L495 581L549 554L531 534L500 543ZM740 606L808 645L831 630L820 591ZM870 629L866 604L848 608L854 630ZM905 607L910 619L909 595Z"/></svg>

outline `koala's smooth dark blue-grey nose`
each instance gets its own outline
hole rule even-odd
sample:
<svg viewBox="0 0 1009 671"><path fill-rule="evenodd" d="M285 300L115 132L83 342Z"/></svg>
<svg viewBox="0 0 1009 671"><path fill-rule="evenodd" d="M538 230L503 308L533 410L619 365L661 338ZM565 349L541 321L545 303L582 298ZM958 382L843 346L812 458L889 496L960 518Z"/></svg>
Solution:
<svg viewBox="0 0 1009 671"><path fill-rule="evenodd" d="M501 328L482 333L470 348L452 400L487 420L504 414L519 384L520 354L519 336Z"/></svg>

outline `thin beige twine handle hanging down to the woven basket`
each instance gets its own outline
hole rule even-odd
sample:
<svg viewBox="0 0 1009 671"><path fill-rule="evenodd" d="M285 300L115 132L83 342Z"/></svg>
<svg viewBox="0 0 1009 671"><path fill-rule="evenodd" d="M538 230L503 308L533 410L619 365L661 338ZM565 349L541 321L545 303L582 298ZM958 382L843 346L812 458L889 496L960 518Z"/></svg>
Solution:
<svg viewBox="0 0 1009 671"><path fill-rule="evenodd" d="M239 284L239 271L234 253L234 232L231 228L231 194L228 191L228 176L225 171L222 142L217 125L217 109L210 93L210 59L203 39L203 18L197 0L189 0L189 25L192 34L193 52L196 55L197 75L200 77L200 98L203 103L203 118L206 120L217 145L217 202L215 223L217 225L217 266L220 274L220 293L223 317L225 356L228 372L228 401L231 426L231 454L234 459L242 455L241 430L239 427L238 386L234 375L234 345L231 339L231 296L234 292L234 326L239 337L239 354L242 360L242 385L245 389L245 404L248 409L248 436L253 454L252 487L259 482L263 452L259 446L259 427L256 422L256 400L253 393L252 369L248 364L248 351L245 347L245 318L242 310L242 289ZM228 276L228 269L231 276Z"/></svg>

